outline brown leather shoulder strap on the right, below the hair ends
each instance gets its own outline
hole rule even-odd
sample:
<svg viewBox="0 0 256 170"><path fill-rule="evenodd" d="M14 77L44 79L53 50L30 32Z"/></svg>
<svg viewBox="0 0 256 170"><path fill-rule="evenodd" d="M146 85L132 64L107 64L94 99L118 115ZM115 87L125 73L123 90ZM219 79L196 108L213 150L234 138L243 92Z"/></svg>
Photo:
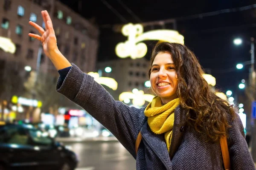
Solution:
<svg viewBox="0 0 256 170"><path fill-rule="evenodd" d="M220 144L221 144L221 153L222 153L222 159L224 162L224 168L225 168L225 170L231 170L230 156L229 156L229 152L228 152L226 136L221 137Z"/></svg>

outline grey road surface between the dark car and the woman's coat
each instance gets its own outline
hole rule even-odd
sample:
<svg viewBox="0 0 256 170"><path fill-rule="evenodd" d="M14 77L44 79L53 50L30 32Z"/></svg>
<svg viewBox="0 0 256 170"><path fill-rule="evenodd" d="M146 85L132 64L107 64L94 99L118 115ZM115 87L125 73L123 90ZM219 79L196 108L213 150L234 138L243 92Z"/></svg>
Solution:
<svg viewBox="0 0 256 170"><path fill-rule="evenodd" d="M119 142L64 143L79 158L76 170L135 170L135 159Z"/></svg>

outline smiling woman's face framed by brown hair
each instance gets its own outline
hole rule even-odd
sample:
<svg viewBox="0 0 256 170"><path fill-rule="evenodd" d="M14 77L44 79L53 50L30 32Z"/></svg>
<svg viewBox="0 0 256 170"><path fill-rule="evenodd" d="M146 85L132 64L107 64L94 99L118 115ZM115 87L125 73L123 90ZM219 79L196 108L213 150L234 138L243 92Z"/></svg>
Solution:
<svg viewBox="0 0 256 170"><path fill-rule="evenodd" d="M151 66L150 83L154 93L163 103L177 98L178 80L171 54L166 52L157 54Z"/></svg>

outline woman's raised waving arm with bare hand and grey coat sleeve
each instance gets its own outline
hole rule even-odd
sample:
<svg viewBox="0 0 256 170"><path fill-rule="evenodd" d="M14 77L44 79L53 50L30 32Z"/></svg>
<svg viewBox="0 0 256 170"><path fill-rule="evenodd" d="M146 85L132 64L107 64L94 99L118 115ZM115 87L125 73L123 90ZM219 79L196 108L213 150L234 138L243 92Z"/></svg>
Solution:
<svg viewBox="0 0 256 170"><path fill-rule="evenodd" d="M44 53L57 70L71 66L67 76L58 80L57 91L80 105L110 130L135 158L135 140L140 130L140 122L145 118L143 108L130 108L122 102L115 101L102 85L94 81L93 77L83 73L76 65L71 65L58 50L48 12L41 11L41 14L46 29L30 21L29 24L34 26L40 35L30 33L29 36L42 42Z"/></svg>

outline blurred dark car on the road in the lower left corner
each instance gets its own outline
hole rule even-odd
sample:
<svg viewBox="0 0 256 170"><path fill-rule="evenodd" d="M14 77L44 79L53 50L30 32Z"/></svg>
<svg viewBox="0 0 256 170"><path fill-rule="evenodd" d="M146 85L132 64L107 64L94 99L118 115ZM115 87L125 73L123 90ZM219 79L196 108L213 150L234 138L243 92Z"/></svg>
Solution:
<svg viewBox="0 0 256 170"><path fill-rule="evenodd" d="M0 125L0 170L74 170L76 154L32 125Z"/></svg>

